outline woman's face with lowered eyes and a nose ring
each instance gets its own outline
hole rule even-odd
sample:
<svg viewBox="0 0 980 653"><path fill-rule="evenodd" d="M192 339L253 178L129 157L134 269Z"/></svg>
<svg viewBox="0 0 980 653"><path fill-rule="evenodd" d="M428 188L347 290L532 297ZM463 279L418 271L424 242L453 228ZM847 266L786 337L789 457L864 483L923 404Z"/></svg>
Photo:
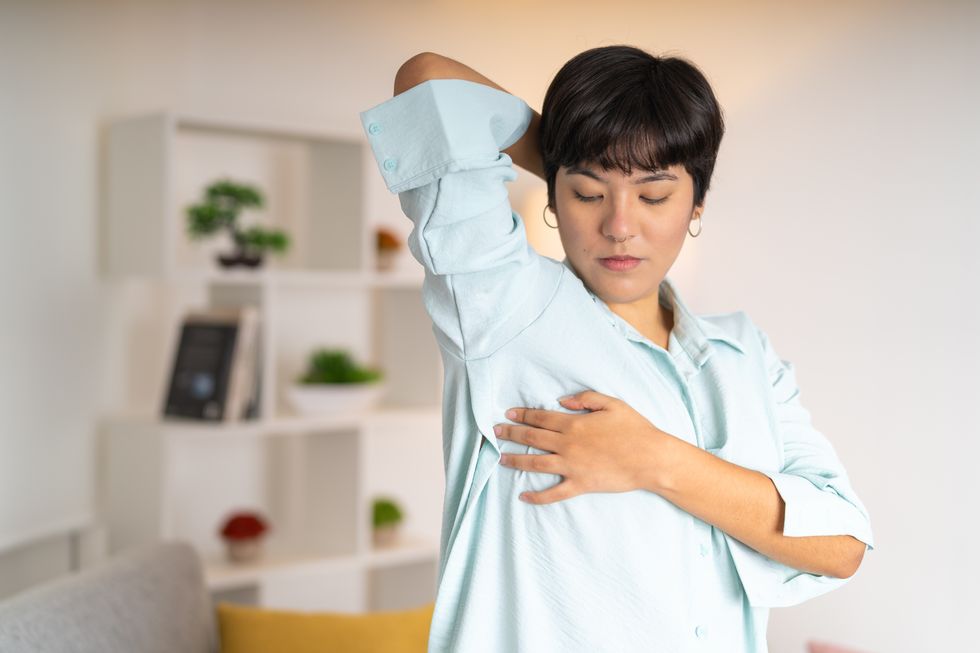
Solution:
<svg viewBox="0 0 980 653"><path fill-rule="evenodd" d="M690 221L703 210L693 201L694 180L680 164L657 172L634 167L629 176L598 165L562 166L555 176L565 255L585 285L609 305L657 301ZM639 261L612 269L602 260L610 256Z"/></svg>

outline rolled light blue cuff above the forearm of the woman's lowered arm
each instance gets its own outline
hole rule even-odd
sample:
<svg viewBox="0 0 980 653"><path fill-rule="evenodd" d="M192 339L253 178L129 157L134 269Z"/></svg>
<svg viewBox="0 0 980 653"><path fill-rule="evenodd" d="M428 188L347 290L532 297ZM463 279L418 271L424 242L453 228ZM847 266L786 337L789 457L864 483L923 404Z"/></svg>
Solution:
<svg viewBox="0 0 980 653"><path fill-rule="evenodd" d="M786 504L783 535L851 535L874 549L871 525L864 511L833 488L821 490L794 474L762 472L772 479Z"/></svg>

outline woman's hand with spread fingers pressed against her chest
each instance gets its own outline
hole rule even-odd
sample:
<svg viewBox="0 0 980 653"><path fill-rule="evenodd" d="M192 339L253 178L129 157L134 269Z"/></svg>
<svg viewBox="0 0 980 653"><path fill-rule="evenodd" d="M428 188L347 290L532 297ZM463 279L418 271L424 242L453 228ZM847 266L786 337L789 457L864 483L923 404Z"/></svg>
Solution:
<svg viewBox="0 0 980 653"><path fill-rule="evenodd" d="M525 492L533 504L563 501L590 492L629 492L652 487L663 464L663 444L673 436L661 431L624 401L592 390L562 399L569 414L513 408L508 419L519 424L494 426L498 440L510 440L550 454L502 454L500 464L527 472L558 474L564 480L541 492ZM499 433L497 431L499 430Z"/></svg>

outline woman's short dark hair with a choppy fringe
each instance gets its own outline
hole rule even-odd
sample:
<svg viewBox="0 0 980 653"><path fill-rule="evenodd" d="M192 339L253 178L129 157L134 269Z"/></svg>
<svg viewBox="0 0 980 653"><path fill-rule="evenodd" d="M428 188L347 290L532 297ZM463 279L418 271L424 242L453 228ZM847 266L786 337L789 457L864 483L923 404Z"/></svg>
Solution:
<svg viewBox="0 0 980 653"><path fill-rule="evenodd" d="M628 45L586 50L551 80L541 108L540 142L555 206L561 166L657 170L683 164L701 204L725 124L711 85L691 62Z"/></svg>

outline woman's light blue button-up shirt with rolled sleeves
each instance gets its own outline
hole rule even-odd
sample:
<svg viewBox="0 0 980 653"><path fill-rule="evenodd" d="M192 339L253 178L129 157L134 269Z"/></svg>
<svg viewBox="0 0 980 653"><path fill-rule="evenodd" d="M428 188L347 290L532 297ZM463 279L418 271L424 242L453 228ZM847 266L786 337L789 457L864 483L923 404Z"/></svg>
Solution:
<svg viewBox="0 0 980 653"><path fill-rule="evenodd" d="M592 389L658 428L768 475L787 536L853 535L873 547L867 510L800 404L793 365L742 311L696 316L671 279L665 350L613 313L565 259L527 242L501 152L527 129L520 98L430 80L361 120L388 189L413 222L422 299L445 372L446 494L429 651L667 653L766 651L769 608L847 579L781 564L646 490L519 501L554 474L498 465L546 453L497 441L504 411L568 411Z"/></svg>

